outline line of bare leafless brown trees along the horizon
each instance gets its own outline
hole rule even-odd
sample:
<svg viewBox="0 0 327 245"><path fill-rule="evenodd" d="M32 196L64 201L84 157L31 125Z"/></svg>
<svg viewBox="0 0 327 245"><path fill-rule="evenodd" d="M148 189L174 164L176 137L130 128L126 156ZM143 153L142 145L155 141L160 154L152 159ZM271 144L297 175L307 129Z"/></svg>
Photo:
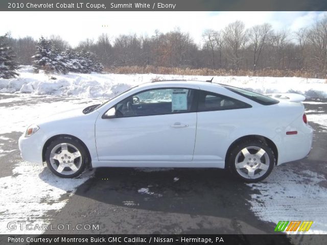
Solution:
<svg viewBox="0 0 327 245"><path fill-rule="evenodd" d="M9 38L18 64L31 65L37 42L31 37ZM120 66L155 66L251 70L301 70L311 77L326 78L327 15L306 29L295 32L275 31L269 23L246 29L242 21L229 23L221 30L205 30L201 44L189 33L175 29L168 33L156 30L153 35L102 34L87 38L77 47L60 36L49 41L58 53L89 52L105 68Z"/></svg>

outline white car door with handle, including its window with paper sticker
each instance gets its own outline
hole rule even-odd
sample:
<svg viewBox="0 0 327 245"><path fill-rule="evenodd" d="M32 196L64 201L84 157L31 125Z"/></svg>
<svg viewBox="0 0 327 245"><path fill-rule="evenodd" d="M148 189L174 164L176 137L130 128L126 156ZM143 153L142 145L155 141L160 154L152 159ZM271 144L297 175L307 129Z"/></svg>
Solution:
<svg viewBox="0 0 327 245"><path fill-rule="evenodd" d="M195 90L155 88L115 106L96 121L99 161L191 161L195 145Z"/></svg>

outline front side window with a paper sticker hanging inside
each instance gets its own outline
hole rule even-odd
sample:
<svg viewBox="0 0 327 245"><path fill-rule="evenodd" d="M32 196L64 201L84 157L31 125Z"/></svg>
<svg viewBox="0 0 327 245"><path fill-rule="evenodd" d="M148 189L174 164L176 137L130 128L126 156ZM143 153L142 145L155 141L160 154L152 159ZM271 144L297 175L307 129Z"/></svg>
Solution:
<svg viewBox="0 0 327 245"><path fill-rule="evenodd" d="M119 117L150 116L195 111L193 89L160 88L136 93L116 105Z"/></svg>

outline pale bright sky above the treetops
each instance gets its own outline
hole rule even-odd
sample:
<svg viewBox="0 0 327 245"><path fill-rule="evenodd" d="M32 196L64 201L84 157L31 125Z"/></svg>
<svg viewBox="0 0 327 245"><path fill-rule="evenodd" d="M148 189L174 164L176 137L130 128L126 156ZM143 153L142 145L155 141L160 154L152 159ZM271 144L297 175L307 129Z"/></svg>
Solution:
<svg viewBox="0 0 327 245"><path fill-rule="evenodd" d="M308 27L326 12L0 12L0 35L15 38L60 35L71 45L107 33L111 40L119 34L153 35L155 29L169 32L179 27L196 43L206 29L220 30L242 20L246 27L268 22L275 30ZM102 27L106 26L106 27Z"/></svg>

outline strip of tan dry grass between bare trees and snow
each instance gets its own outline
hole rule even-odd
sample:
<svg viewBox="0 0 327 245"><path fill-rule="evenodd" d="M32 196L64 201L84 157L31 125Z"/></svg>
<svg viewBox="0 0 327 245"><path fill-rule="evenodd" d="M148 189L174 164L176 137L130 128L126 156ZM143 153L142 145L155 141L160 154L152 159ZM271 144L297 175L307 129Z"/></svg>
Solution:
<svg viewBox="0 0 327 245"><path fill-rule="evenodd" d="M306 70L278 70L278 69L261 69L253 70L227 70L227 69L210 69L210 68L179 68L164 66L119 66L105 67L104 72L114 74L168 74L168 75L191 75L191 76L258 76L258 77L302 77L302 78L322 78L315 72ZM325 79L325 77L324 77Z"/></svg>

